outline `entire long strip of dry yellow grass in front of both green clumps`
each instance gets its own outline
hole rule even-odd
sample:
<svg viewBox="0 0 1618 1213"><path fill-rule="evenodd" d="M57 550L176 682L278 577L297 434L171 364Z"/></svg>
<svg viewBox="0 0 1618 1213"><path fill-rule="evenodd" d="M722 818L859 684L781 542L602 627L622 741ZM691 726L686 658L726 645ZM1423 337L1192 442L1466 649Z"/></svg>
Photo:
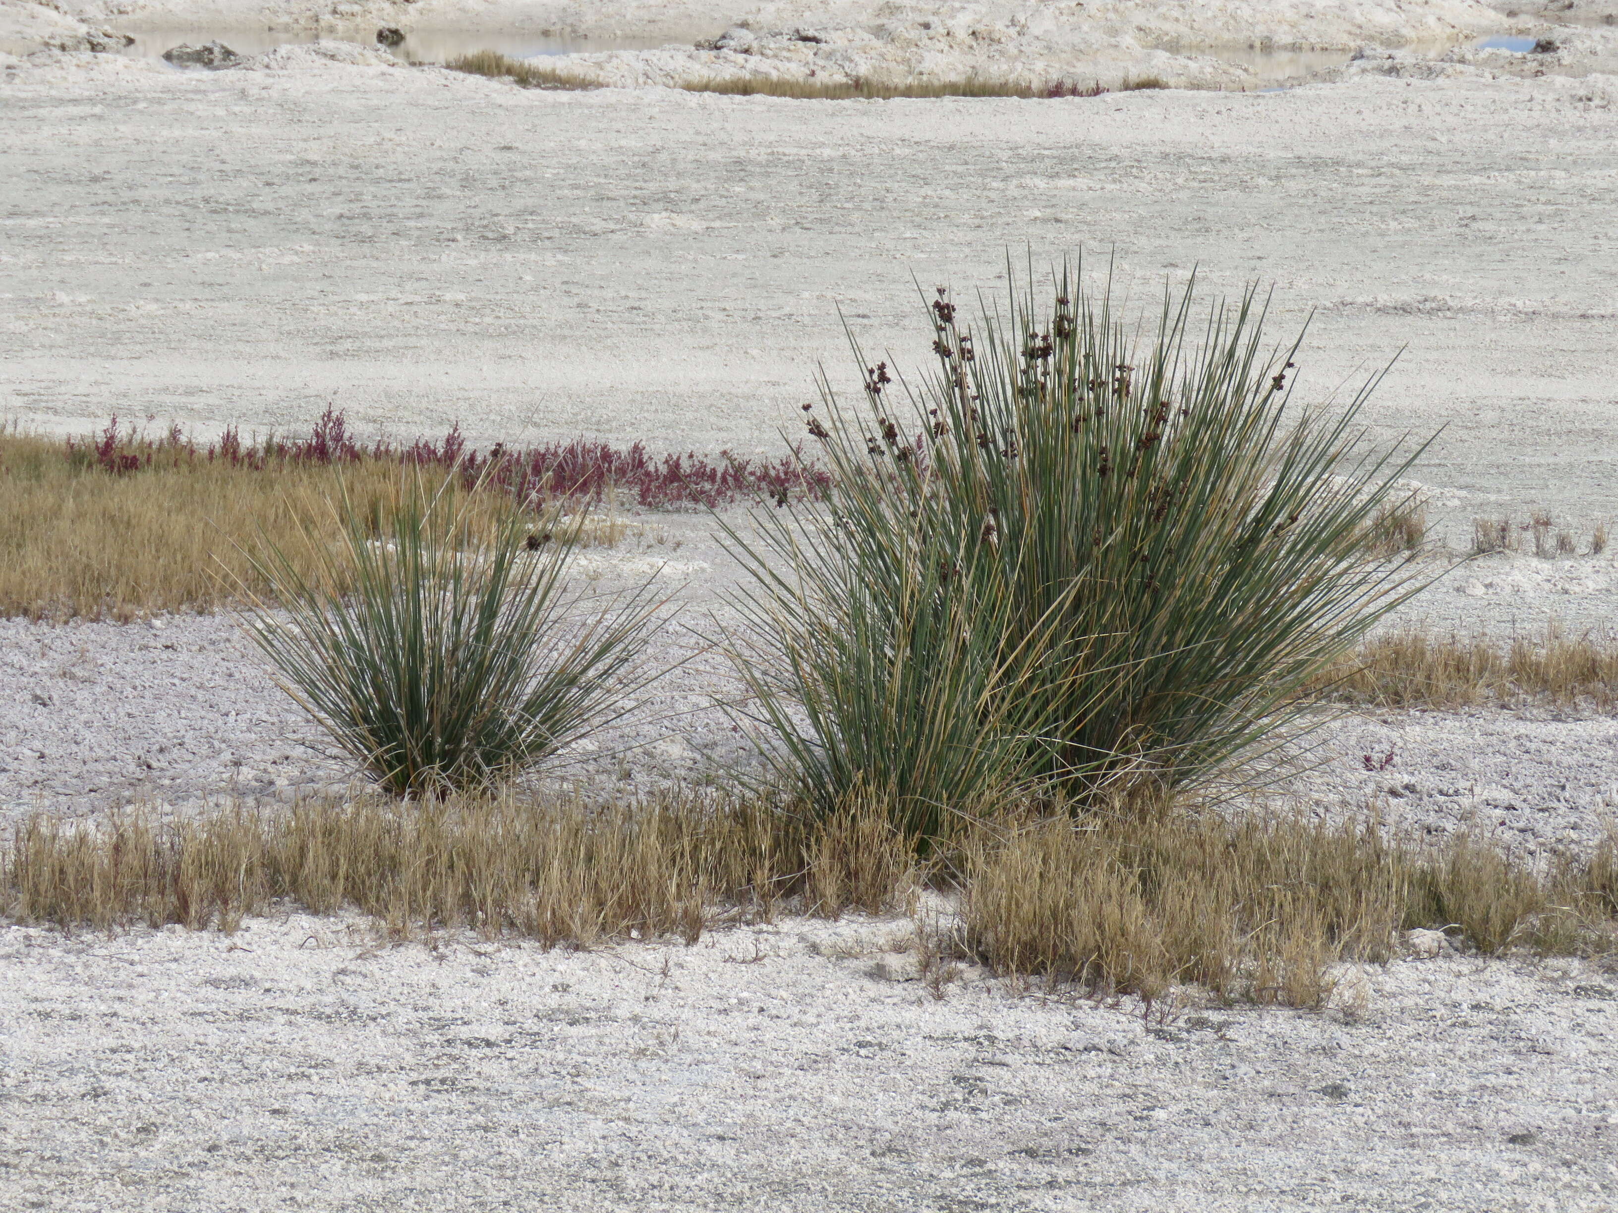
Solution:
<svg viewBox="0 0 1618 1213"><path fill-rule="evenodd" d="M1383 961L1411 927L1482 953L1602 953L1618 919L1618 846L1539 864L1463 836L1390 839L1372 820L1217 814L1016 817L963 828L930 872L880 805L814 823L749 799L591 809L510 797L424 805L309 802L100 825L36 817L0 865L21 922L233 930L248 914L353 907L395 936L437 928L592 946L694 941L783 911L916 912L930 878L953 920L919 928L934 993L951 959L1147 1001L1176 985L1320 1006L1332 966Z"/></svg>

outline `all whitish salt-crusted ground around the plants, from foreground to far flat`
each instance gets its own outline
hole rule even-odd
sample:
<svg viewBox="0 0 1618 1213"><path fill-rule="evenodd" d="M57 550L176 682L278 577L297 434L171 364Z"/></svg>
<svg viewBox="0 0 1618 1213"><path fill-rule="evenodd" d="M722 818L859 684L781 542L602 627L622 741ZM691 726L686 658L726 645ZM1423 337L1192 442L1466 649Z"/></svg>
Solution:
<svg viewBox="0 0 1618 1213"><path fill-rule="evenodd" d="M0 66L0 409L209 432L335 401L395 435L778 450L814 362L848 378L838 307L908 366L913 273L998 286L1008 249L1084 247L1142 301L1192 267L1275 281L1281 327L1317 309L1317 395L1408 344L1367 417L1445 427L1416 475L1451 542L1477 513L1613 513L1612 78L1395 63L1264 95L822 105L277 65ZM1442 78L1406 78L1424 71ZM604 576L667 560L710 603L723 564L699 522L647 526ZM1600 623L1613 573L1492 558L1417 618ZM228 619L159 623L3 626L11 814L340 778ZM691 670L671 707L714 691ZM735 755L720 716L680 720L637 738L654 775ZM1367 733L1335 734L1304 791L1398 799L1354 771L1398 734L1417 820L1492 812L1555 843L1618 784L1603 716L1345 728ZM1346 975L1324 1014L1158 1022L981 974L935 1001L874 975L904 975L904 920L587 954L249 927L0 932L0 1205L1618 1203L1618 980L1582 962L1413 956Z"/></svg>

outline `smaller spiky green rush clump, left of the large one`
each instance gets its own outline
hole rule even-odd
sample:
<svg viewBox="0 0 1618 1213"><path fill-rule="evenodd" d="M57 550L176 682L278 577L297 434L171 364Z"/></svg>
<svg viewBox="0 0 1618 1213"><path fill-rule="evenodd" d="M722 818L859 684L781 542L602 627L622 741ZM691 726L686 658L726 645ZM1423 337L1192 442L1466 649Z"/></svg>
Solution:
<svg viewBox="0 0 1618 1213"><path fill-rule="evenodd" d="M248 592L249 631L377 784L440 796L515 776L612 718L657 603L647 584L581 611L565 573L584 514L536 532L401 475L369 513L340 487L341 540L312 571L269 540L251 553L270 592Z"/></svg>

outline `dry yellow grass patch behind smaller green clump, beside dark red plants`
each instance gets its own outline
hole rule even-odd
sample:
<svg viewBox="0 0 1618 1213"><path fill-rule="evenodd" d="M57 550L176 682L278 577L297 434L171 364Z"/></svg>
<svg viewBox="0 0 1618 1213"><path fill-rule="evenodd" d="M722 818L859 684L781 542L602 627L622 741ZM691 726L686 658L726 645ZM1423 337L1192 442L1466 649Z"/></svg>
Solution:
<svg viewBox="0 0 1618 1213"><path fill-rule="evenodd" d="M312 545L340 539L330 505L338 484L380 511L398 500L403 474L388 459L272 459L256 469L181 456L113 474L70 458L60 440L0 433L0 616L131 619L212 610L238 585L262 594L269 587L246 556L260 535L312 569ZM447 474L424 475L440 484ZM515 508L500 493L479 495L489 522ZM307 534L298 518L309 519ZM539 518L536 529L544 529ZM623 524L607 518L584 539L612 543L621 534Z"/></svg>

